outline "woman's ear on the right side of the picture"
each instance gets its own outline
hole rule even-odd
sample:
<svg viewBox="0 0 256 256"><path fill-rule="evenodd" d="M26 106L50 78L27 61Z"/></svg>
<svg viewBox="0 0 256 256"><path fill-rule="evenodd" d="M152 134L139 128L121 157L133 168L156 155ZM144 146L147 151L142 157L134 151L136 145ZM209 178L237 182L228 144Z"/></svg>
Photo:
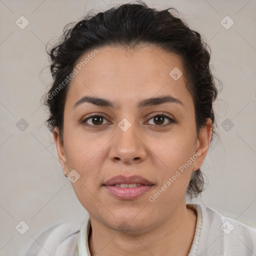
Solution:
<svg viewBox="0 0 256 256"><path fill-rule="evenodd" d="M200 129L199 135L196 139L195 152L198 155L196 161L193 164L193 171L197 170L203 163L206 157L209 143L212 134L212 121L210 118L206 119L206 124Z"/></svg>

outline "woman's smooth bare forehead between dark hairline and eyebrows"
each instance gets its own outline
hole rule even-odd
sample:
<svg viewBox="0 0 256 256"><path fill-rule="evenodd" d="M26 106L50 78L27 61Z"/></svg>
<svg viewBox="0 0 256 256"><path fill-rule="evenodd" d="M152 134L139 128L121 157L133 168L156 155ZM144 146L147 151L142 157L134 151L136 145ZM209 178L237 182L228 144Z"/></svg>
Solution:
<svg viewBox="0 0 256 256"><path fill-rule="evenodd" d="M181 98L189 96L185 70L177 54L150 46L135 50L106 46L97 50L95 54L91 54L93 50L84 53L76 61L77 74L70 82L67 99L74 101L85 94L94 94L122 101L158 92ZM177 80L170 75L173 68L183 73Z"/></svg>

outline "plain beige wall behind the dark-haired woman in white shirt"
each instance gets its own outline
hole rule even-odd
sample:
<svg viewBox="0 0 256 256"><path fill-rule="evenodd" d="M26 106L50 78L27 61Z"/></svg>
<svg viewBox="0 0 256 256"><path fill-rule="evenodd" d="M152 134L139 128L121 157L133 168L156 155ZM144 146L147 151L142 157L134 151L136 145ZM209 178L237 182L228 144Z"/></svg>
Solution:
<svg viewBox="0 0 256 256"><path fill-rule="evenodd" d="M2 256L19 255L19 246L38 232L65 220L82 222L87 214L62 173L44 125L47 114L40 98L51 82L49 68L44 68L49 64L45 44L89 10L124 2L129 1L0 0ZM157 9L175 7L203 35L212 50L213 72L223 83L214 105L220 138L202 167L208 186L193 202L256 227L256 1L145 2ZM29 22L23 29L15 23L21 15ZM24 123L28 126L20 126ZM29 226L24 234L15 228L22 220Z"/></svg>

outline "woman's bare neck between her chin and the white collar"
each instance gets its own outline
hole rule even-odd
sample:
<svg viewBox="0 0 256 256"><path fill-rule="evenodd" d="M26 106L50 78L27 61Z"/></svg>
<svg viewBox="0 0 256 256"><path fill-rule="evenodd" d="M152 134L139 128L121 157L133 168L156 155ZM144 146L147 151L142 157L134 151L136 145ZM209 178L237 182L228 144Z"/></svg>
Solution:
<svg viewBox="0 0 256 256"><path fill-rule="evenodd" d="M186 256L190 250L196 213L185 202L154 229L128 234L113 230L90 216L92 232L89 236L91 255L178 255Z"/></svg>

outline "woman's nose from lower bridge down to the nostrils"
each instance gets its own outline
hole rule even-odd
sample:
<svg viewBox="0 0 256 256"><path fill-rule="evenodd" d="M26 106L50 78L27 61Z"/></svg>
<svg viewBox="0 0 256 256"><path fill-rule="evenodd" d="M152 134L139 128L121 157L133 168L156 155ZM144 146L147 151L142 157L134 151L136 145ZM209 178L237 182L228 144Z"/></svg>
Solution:
<svg viewBox="0 0 256 256"><path fill-rule="evenodd" d="M112 161L133 164L146 158L146 144L135 124L132 124L127 130L116 126L116 132L109 151Z"/></svg>

